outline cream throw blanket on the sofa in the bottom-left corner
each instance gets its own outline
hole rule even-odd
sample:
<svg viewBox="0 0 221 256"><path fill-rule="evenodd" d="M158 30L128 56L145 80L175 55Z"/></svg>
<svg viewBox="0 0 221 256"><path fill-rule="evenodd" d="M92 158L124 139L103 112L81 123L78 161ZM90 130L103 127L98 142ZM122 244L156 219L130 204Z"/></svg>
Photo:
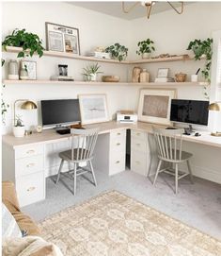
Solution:
<svg viewBox="0 0 221 256"><path fill-rule="evenodd" d="M63 256L60 249L39 236L10 237L3 240L3 256Z"/></svg>

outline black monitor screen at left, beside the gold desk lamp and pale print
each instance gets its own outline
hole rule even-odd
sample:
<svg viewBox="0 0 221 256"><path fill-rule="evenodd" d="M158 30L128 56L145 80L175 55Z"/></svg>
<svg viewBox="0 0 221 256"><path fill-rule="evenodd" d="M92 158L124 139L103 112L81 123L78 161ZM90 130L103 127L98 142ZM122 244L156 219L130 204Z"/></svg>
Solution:
<svg viewBox="0 0 221 256"><path fill-rule="evenodd" d="M40 104L43 126L81 121L78 99L41 100Z"/></svg>

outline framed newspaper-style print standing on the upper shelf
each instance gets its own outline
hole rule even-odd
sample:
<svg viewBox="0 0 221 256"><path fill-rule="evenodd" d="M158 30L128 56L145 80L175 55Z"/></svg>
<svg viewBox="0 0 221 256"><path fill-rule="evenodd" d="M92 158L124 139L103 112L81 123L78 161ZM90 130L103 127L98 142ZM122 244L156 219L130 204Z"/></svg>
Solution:
<svg viewBox="0 0 221 256"><path fill-rule="evenodd" d="M45 23L45 26L47 50L80 55L78 28L53 23Z"/></svg>

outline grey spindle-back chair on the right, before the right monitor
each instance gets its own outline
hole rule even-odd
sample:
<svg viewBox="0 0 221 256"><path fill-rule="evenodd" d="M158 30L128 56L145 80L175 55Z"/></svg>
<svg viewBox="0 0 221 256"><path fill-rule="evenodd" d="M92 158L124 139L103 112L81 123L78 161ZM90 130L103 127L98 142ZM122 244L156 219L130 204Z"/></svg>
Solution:
<svg viewBox="0 0 221 256"><path fill-rule="evenodd" d="M165 172L167 174L173 175L175 177L175 194L178 193L178 180L190 175L190 180L194 183L193 175L190 167L189 159L193 154L189 152L182 151L182 133L183 128L178 129L165 129L165 128L152 128L155 137L156 145L158 148L158 166L153 180L153 185L155 185L158 174ZM163 162L169 162L173 168L163 168L161 165ZM187 163L187 168L189 173L183 173L178 170L178 165L181 162Z"/></svg>

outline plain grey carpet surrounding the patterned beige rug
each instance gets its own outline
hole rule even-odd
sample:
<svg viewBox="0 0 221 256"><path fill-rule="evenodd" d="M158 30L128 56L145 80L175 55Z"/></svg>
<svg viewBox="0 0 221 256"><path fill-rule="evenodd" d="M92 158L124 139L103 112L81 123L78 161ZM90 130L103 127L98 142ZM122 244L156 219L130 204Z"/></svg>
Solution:
<svg viewBox="0 0 221 256"><path fill-rule="evenodd" d="M161 174L156 186L153 187L150 179L132 171L125 171L113 177L108 177L105 172L96 171L98 186L94 187L87 179L79 177L77 195L73 196L71 179L66 176L62 175L57 185L53 181L55 177L48 178L46 199L24 207L23 211L39 221L103 191L115 189L221 240L219 184L197 178L195 184L191 184L189 179L181 179L179 194L176 196L169 186L173 185L171 176ZM89 174L87 178L90 178Z"/></svg>

